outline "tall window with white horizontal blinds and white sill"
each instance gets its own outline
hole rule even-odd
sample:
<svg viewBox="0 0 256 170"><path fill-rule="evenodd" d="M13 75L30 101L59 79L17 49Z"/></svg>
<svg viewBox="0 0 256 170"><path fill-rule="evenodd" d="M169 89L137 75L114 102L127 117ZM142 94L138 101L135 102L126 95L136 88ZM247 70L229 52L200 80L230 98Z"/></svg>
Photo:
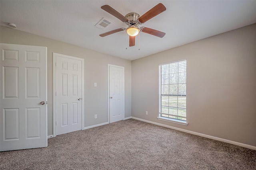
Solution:
<svg viewBox="0 0 256 170"><path fill-rule="evenodd" d="M158 119L186 123L186 60L159 65Z"/></svg>

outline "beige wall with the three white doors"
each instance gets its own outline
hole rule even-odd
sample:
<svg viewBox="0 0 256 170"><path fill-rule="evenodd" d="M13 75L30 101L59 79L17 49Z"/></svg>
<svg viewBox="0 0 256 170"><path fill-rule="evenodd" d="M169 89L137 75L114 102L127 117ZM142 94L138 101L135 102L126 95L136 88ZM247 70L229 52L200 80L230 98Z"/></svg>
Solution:
<svg viewBox="0 0 256 170"><path fill-rule="evenodd" d="M124 66L125 117L131 116L131 61L105 55L68 43L2 27L0 42L9 44L44 46L48 50L48 135L53 134L53 70L52 53L84 59L84 123L85 126L108 122L108 69L107 64ZM86 41L86 40L85 40ZM97 82L97 88L94 87ZM98 115L94 119L94 114Z"/></svg>

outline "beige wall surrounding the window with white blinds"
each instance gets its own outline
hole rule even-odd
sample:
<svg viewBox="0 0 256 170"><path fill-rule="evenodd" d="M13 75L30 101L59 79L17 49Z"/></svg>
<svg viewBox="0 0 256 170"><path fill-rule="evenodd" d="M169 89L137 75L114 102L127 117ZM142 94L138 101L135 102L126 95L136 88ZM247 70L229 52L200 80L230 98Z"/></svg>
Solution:
<svg viewBox="0 0 256 170"><path fill-rule="evenodd" d="M156 118L158 65L180 59L188 126ZM132 116L256 146L256 24L132 61Z"/></svg>

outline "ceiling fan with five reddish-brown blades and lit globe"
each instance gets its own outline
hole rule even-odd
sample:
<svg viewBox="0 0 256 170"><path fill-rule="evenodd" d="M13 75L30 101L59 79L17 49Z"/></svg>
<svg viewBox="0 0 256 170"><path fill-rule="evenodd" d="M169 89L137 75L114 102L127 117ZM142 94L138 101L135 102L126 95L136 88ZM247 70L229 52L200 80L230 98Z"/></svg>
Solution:
<svg viewBox="0 0 256 170"><path fill-rule="evenodd" d="M147 28L147 27L138 28L138 25L145 23L146 21L157 16L158 14L161 14L162 12L164 12L166 10L165 6L162 3L157 4L156 6L154 6L152 9L150 9L148 12L146 12L142 16L140 16L139 14L137 14L135 12L132 12L132 13L127 14L124 17L122 14L120 14L119 12L114 10L114 8L112 8L109 5L104 5L101 8L103 10L105 10L106 12L112 14L119 20L126 23L127 28L114 29L112 31L108 31L106 33L100 34L100 37L105 37L107 35L126 30L127 34L129 35L129 46L132 47L135 45L135 36L138 35L140 32L148 33L148 34L154 35L156 37L160 37L160 38L164 37L164 35L165 35L164 32L161 32L161 31L158 31L155 29L151 29L151 28Z"/></svg>

